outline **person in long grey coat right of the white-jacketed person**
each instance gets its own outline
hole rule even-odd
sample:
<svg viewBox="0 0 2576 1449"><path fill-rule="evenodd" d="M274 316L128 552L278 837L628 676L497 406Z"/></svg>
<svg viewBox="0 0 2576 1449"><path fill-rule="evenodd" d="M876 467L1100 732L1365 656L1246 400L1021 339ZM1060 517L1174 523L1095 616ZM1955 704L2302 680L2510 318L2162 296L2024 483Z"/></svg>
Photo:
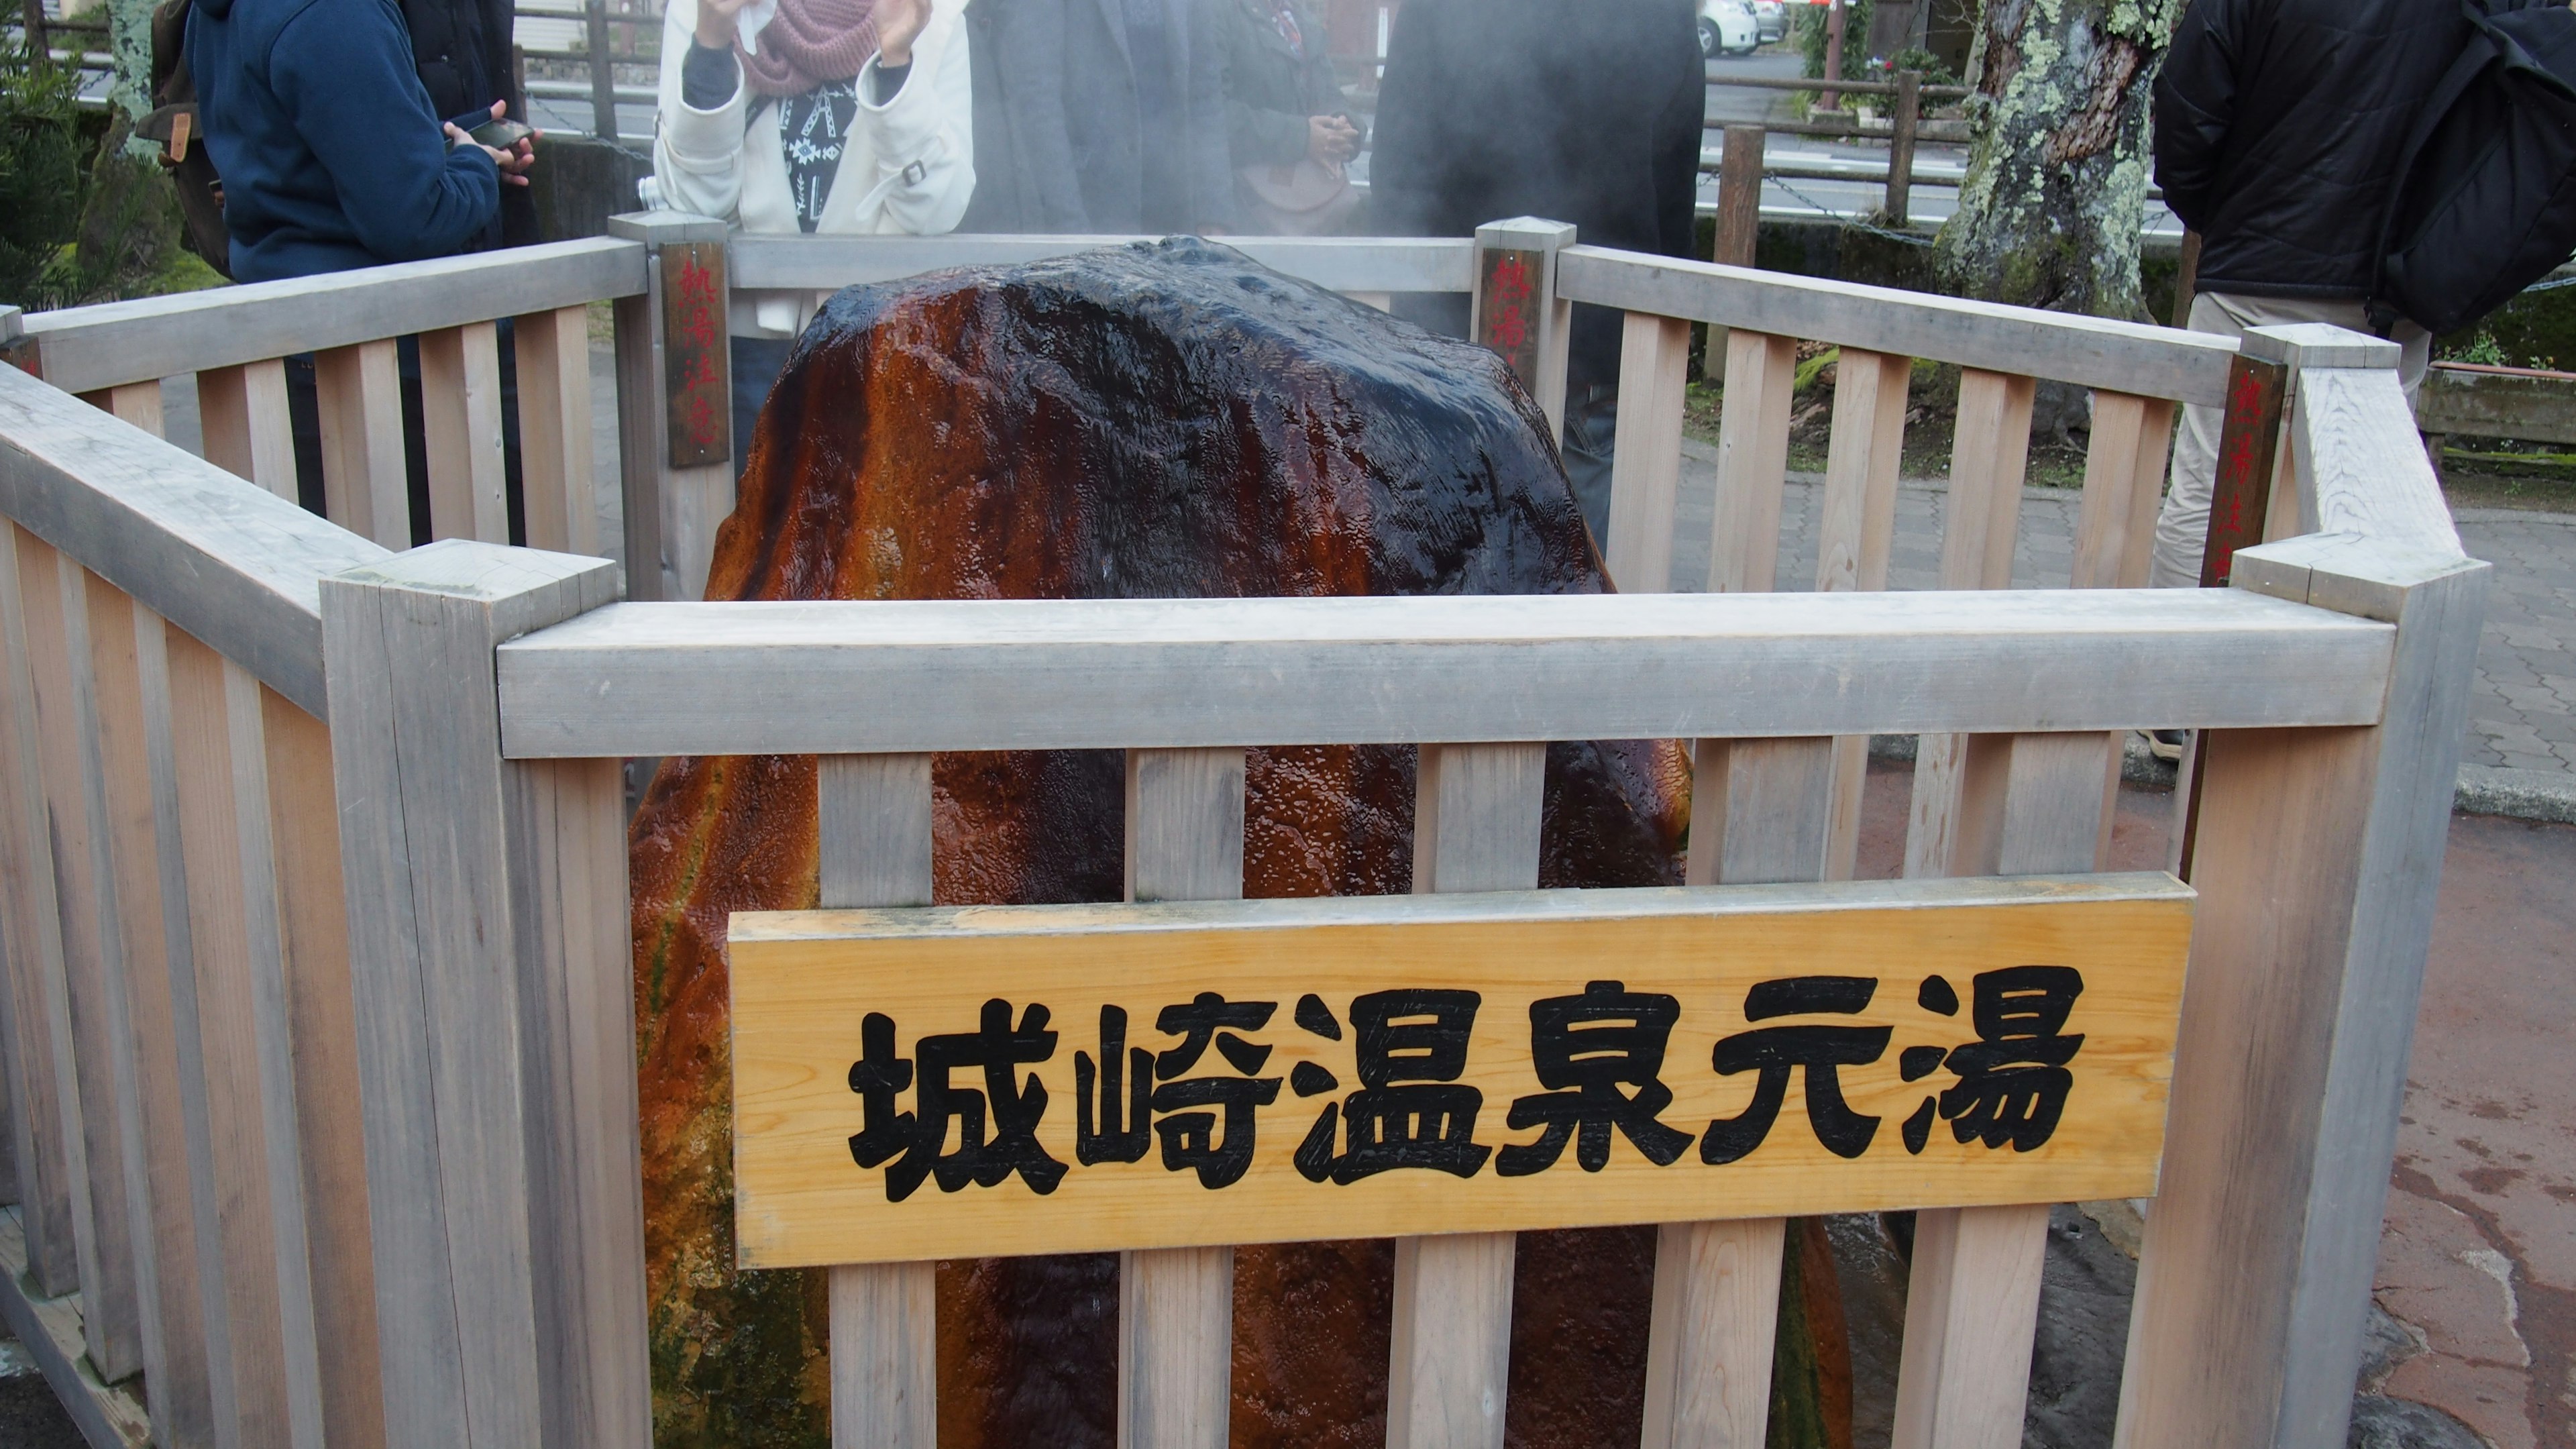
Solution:
<svg viewBox="0 0 2576 1449"><path fill-rule="evenodd" d="M976 0L963 232L1218 232L1231 0Z"/></svg>

